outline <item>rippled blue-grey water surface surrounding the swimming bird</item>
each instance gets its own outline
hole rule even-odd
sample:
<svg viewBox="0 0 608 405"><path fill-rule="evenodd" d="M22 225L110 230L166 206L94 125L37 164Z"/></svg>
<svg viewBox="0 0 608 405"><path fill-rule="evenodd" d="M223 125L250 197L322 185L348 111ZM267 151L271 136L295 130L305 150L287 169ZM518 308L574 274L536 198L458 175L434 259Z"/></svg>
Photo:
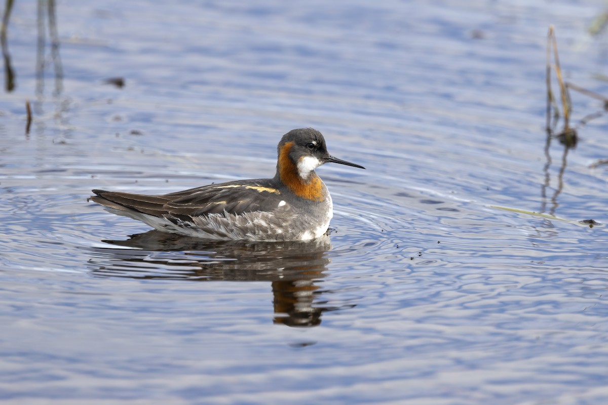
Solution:
<svg viewBox="0 0 608 405"><path fill-rule="evenodd" d="M3 403L608 401L607 121L565 157L544 132L549 24L608 95L602 4L376 3L62 1L36 75L16 2ZM329 240L209 245L86 201L269 177L305 126L367 168L318 170Z"/></svg>

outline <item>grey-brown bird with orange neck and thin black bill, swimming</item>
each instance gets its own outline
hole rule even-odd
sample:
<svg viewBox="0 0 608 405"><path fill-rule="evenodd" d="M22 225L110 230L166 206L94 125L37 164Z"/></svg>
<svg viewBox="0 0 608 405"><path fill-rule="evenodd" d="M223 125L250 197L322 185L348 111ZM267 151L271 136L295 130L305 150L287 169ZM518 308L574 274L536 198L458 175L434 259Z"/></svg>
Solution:
<svg viewBox="0 0 608 405"><path fill-rule="evenodd" d="M146 195L94 189L89 200L159 231L212 240L314 240L327 234L333 202L315 169L339 163L313 128L292 129L277 146L272 179L236 180Z"/></svg>

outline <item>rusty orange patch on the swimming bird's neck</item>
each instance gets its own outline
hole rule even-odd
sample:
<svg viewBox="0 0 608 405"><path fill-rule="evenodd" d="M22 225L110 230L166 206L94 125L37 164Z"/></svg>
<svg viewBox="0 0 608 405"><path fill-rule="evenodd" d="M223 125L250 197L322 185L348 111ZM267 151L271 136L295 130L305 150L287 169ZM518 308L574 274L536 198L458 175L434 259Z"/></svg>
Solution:
<svg viewBox="0 0 608 405"><path fill-rule="evenodd" d="M288 186L296 196L311 201L323 201L323 182L315 173L311 172L308 179L304 180L298 175L298 169L289 158L293 142L288 142L281 148L278 155L278 175L281 181Z"/></svg>

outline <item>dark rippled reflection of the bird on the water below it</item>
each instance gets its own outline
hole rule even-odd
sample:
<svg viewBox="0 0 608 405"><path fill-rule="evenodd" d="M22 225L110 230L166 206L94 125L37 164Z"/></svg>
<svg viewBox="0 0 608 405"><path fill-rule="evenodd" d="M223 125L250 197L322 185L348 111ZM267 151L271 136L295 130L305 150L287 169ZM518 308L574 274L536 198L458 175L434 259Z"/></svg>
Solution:
<svg viewBox="0 0 608 405"><path fill-rule="evenodd" d="M125 248L95 248L89 265L94 274L137 279L191 281L269 281L274 322L288 326L319 325L321 314L338 308L314 305L317 281L330 259L329 237L313 242L215 242L160 231L104 242Z"/></svg>

